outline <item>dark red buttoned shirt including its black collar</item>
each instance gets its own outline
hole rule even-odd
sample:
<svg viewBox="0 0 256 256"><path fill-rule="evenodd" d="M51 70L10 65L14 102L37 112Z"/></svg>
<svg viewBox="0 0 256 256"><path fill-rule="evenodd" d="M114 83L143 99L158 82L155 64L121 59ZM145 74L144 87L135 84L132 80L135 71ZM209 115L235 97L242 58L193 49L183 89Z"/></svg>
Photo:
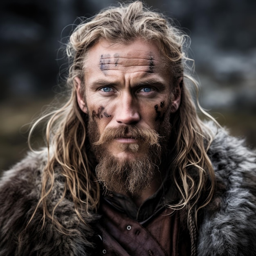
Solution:
<svg viewBox="0 0 256 256"><path fill-rule="evenodd" d="M191 255L189 231L180 223L181 211L166 206L177 200L177 192L164 184L140 207L125 195L103 196L97 255Z"/></svg>

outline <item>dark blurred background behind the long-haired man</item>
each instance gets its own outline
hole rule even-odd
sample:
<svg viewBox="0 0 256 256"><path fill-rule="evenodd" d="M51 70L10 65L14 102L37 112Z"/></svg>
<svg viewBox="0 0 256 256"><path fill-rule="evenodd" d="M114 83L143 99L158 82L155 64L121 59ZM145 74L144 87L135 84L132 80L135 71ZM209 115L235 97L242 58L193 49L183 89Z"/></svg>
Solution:
<svg viewBox="0 0 256 256"><path fill-rule="evenodd" d="M200 103L256 146L256 1L147 0L191 37ZM60 41L113 0L1 0L0 170L27 151L29 123L60 89ZM64 29L65 28L65 29ZM58 61L57 61L58 59Z"/></svg>

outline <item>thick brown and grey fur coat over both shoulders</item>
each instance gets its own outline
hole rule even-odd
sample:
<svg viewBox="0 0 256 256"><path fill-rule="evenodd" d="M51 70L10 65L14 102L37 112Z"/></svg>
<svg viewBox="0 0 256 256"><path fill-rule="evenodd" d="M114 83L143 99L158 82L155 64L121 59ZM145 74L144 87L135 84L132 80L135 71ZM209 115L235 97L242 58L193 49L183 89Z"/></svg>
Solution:
<svg viewBox="0 0 256 256"><path fill-rule="evenodd" d="M197 238L199 256L256 255L256 162L255 154L243 141L225 130L213 128L215 139L208 151L216 172L216 192L204 209ZM99 218L83 214L88 225L78 220L68 197L56 208L55 217L71 236L60 233L50 220L42 229L42 209L38 209L25 229L40 198L42 170L47 152L29 153L4 172L0 181L0 256L92 255L94 224ZM61 197L64 178L56 168L56 181L49 198L53 209ZM20 235L20 236L19 236ZM20 247L18 247L20 242Z"/></svg>

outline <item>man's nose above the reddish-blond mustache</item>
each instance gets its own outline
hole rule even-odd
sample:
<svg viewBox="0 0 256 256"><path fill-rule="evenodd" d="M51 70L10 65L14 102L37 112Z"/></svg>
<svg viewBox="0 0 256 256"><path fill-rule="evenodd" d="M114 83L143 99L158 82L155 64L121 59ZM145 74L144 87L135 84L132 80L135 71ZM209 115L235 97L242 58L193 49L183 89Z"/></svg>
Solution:
<svg viewBox="0 0 256 256"><path fill-rule="evenodd" d="M119 124L136 124L140 120L136 99L129 92L124 92L116 107L116 121Z"/></svg>

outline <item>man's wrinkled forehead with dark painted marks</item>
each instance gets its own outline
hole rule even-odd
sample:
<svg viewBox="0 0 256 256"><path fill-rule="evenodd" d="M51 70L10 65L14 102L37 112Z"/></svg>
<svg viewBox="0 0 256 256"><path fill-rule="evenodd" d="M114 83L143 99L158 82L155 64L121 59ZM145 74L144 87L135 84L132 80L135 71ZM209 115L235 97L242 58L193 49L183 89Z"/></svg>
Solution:
<svg viewBox="0 0 256 256"><path fill-rule="evenodd" d="M129 44L101 41L88 52L85 70L101 70L105 75L112 71L155 73L163 70L167 61L155 43L135 40Z"/></svg>

